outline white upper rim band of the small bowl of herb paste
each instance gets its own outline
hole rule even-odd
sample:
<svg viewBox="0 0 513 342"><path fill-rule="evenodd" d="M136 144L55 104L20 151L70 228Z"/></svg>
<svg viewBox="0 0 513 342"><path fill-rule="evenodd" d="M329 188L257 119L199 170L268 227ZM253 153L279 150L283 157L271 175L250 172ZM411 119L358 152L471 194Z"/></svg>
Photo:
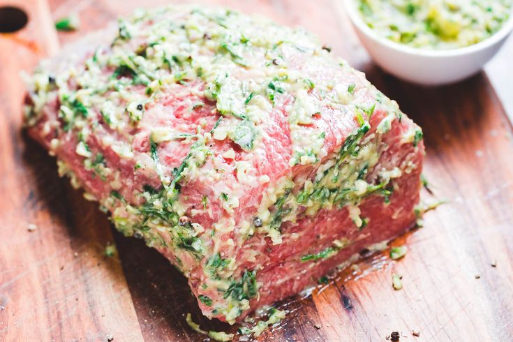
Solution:
<svg viewBox="0 0 513 342"><path fill-rule="evenodd" d="M357 0L345 0L345 9L346 13L351 20L351 22L355 25L356 29L362 31L366 36L375 40L377 43L382 45L387 45L394 50L399 50L405 54L415 55L415 56L423 56L423 57L458 57L467 54L473 54L474 52L478 52L481 50L486 50L487 48L495 45L500 42L500 40L505 39L513 30L513 6L511 8L510 17L503 24L503 27L500 28L495 34L492 34L488 38L480 41L479 43L475 43L473 45L468 45L465 47L457 47L456 49L449 50L429 50L418 47L410 47L408 45L404 45L401 43L396 43L393 40L389 40L384 36L380 36L373 29L371 29L365 22L362 16L359 14L359 10L357 9Z"/></svg>

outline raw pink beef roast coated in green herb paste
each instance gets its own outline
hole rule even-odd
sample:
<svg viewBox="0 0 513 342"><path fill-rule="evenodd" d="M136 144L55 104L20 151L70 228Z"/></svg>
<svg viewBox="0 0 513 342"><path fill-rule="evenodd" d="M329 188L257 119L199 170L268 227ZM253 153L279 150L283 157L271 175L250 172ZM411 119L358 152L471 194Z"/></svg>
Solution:
<svg viewBox="0 0 513 342"><path fill-rule="evenodd" d="M24 115L209 318L239 321L415 224L422 131L300 29L140 11L43 62Z"/></svg>

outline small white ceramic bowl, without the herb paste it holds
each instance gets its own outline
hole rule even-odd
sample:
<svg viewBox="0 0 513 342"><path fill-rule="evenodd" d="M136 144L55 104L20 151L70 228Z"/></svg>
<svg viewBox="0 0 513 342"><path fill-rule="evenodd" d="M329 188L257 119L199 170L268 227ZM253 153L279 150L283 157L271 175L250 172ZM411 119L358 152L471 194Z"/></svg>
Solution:
<svg viewBox="0 0 513 342"><path fill-rule="evenodd" d="M479 72L513 29L512 13L496 34L482 42L454 50L425 50L395 43L377 34L361 17L357 0L345 0L345 8L359 39L376 64L396 77L424 85L452 83Z"/></svg>

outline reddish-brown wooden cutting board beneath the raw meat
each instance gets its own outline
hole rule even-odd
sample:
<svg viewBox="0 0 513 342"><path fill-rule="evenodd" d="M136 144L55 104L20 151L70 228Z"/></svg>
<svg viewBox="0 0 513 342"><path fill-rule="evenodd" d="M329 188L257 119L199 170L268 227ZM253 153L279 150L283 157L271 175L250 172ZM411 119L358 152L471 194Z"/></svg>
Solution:
<svg viewBox="0 0 513 342"><path fill-rule="evenodd" d="M20 70L140 1L5 3L24 8L29 23L0 34L0 341L204 340L186 325L188 312L205 329L234 330L202 318L184 277L141 241L112 230L22 131ZM159 3L168 1L144 6ZM377 255L359 264L361 272L285 301L285 322L259 341L385 341L392 331L410 342L513 341L513 130L486 75L424 88L382 73L340 0L208 3L302 25L365 70L424 128L424 174L434 193L424 193L425 200L449 200L426 214L424 228L394 242L408 244L406 258ZM57 36L54 18L73 12L80 30ZM107 258L107 244L119 253ZM402 290L393 290L392 272L402 274Z"/></svg>

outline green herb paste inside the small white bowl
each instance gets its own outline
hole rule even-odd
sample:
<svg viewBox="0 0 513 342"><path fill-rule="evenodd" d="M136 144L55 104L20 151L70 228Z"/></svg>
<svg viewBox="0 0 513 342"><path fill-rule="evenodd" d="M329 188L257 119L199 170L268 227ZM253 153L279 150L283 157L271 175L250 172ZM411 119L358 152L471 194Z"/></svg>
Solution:
<svg viewBox="0 0 513 342"><path fill-rule="evenodd" d="M489 38L509 19L511 0L358 0L376 33L410 47L450 50Z"/></svg>

